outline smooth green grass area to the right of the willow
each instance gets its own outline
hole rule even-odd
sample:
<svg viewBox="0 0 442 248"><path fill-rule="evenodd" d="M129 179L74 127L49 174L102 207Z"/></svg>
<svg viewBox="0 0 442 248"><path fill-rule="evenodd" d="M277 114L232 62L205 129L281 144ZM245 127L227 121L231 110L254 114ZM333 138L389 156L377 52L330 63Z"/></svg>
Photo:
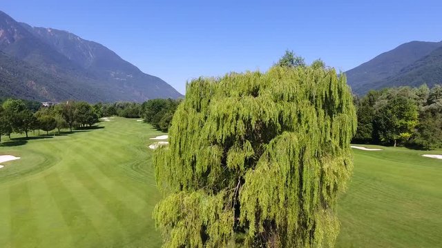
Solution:
<svg viewBox="0 0 442 248"><path fill-rule="evenodd" d="M336 246L442 247L442 160L421 156L442 152L381 148L353 149Z"/></svg>

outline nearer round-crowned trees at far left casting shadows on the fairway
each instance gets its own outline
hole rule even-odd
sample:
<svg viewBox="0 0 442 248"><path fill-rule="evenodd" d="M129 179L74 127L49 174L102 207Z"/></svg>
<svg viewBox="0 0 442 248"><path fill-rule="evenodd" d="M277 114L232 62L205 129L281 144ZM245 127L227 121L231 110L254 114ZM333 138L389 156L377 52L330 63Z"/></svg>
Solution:
<svg viewBox="0 0 442 248"><path fill-rule="evenodd" d="M62 128L92 126L98 122L94 107L84 101L67 102L52 107L29 107L26 101L8 99L0 105L0 137L12 132L24 133L31 130L49 131ZM0 140L1 141L1 140Z"/></svg>

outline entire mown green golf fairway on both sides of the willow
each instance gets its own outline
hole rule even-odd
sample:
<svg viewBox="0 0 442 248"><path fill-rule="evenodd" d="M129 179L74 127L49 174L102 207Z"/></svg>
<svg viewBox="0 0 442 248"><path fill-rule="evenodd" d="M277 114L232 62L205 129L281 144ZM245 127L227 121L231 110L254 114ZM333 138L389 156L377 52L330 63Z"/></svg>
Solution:
<svg viewBox="0 0 442 248"><path fill-rule="evenodd" d="M151 165L162 135L135 119L110 118L61 136L2 137L0 247L160 247ZM367 146L370 148L379 148ZM336 247L442 247L442 160L380 147L354 151L340 196Z"/></svg>

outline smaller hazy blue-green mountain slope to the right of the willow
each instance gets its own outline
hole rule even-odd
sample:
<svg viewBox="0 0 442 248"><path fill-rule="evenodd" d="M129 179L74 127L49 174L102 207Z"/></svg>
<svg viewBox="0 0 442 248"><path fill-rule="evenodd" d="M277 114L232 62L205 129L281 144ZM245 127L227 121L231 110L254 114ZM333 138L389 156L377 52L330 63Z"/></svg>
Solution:
<svg viewBox="0 0 442 248"><path fill-rule="evenodd" d="M399 45L345 72L347 82L356 94L383 87L442 83L439 48L442 42L412 41Z"/></svg>

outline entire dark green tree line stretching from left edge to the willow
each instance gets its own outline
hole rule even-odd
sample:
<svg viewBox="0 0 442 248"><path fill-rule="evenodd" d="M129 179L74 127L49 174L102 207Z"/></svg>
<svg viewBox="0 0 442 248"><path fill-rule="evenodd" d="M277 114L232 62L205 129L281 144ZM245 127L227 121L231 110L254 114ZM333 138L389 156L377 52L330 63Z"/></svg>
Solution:
<svg viewBox="0 0 442 248"><path fill-rule="evenodd" d="M0 141L1 135L12 132L24 133L32 130L44 130L48 134L57 129L92 126L103 116L121 116L125 118L144 118L163 132L171 125L178 100L153 99L140 103L116 102L90 105L84 101L68 101L51 107L41 107L34 101L7 99L0 102Z"/></svg>

